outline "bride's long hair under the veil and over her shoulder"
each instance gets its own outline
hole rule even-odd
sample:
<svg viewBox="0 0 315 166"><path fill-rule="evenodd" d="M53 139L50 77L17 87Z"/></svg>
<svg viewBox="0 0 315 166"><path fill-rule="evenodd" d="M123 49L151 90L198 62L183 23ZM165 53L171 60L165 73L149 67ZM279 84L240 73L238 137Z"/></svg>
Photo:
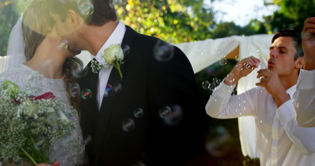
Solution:
<svg viewBox="0 0 315 166"><path fill-rule="evenodd" d="M23 39L25 43L25 57L26 61L33 58L37 47L45 39L46 35L50 32L51 28L54 26L54 19L49 15L48 3L49 0L34 0L27 7L23 14L22 28L23 28ZM80 59L76 57L67 58L66 62L63 64L63 73L65 75L65 83L68 92L68 97L70 99L71 105L77 109L78 115L80 117L80 96L71 97L69 86L75 83L75 78L72 76L71 70L75 68L83 67L83 63Z"/></svg>

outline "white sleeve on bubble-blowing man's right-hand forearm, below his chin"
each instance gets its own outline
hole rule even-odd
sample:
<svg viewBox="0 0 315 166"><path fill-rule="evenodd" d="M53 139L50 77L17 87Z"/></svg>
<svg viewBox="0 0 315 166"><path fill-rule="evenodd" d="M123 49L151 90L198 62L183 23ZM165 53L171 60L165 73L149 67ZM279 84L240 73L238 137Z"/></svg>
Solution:
<svg viewBox="0 0 315 166"><path fill-rule="evenodd" d="M305 128L297 125L291 101L282 104L276 116L284 127L291 141L306 155L315 152L315 127Z"/></svg>

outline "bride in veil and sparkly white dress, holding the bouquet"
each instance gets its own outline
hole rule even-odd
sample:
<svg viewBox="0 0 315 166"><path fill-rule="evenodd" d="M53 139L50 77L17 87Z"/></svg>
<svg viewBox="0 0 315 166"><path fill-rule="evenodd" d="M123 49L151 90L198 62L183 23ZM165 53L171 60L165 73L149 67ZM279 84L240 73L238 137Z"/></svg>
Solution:
<svg viewBox="0 0 315 166"><path fill-rule="evenodd" d="M22 38L25 47L23 47ZM60 49L58 44L60 41L62 40L55 31L54 20L49 15L45 0L31 2L23 14L23 19L20 17L11 32L6 71L0 74L0 79L10 80L20 89L23 89L28 77L34 72L39 72L44 77L41 80L43 83L42 94L53 92L58 100L64 102L66 108L73 106L77 109L78 115L68 118L76 124L71 140L80 139L80 141L74 141L78 142L78 145L69 148L58 141L51 149L49 158L51 161L56 159L60 166L85 165L88 163L88 159L85 155L82 131L79 125L78 102L80 96L71 97L69 95L69 86L75 83L72 69L82 67L82 62L74 57L78 53L68 52L66 44L63 45L64 49ZM19 43L22 44L19 46ZM78 149L81 149L81 152ZM58 165L58 162L54 162L53 165Z"/></svg>

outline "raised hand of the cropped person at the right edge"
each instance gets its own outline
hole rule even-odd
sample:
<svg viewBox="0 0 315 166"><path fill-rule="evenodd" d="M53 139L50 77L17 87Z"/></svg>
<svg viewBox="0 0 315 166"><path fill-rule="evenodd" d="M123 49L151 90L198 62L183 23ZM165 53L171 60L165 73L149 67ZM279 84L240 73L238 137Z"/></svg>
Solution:
<svg viewBox="0 0 315 166"><path fill-rule="evenodd" d="M315 17L307 18L301 33L304 51L303 69L315 69Z"/></svg>

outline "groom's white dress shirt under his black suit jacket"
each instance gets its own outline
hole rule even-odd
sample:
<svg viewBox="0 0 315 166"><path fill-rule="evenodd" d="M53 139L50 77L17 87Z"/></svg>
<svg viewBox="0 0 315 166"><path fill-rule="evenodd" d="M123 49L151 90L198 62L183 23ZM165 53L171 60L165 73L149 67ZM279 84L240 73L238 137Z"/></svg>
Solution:
<svg viewBox="0 0 315 166"><path fill-rule="evenodd" d="M113 33L111 34L111 36L109 36L109 38L101 47L100 51L96 54L96 56L92 55L92 59L95 58L100 63L106 64L105 61L101 60L100 58L104 54L104 50L106 50L106 48L110 47L113 44L121 44L123 42L123 36L125 35L125 33L126 33L126 26L122 22L118 22L118 25L113 31ZM97 94L96 94L97 106L98 106L99 111L100 111L100 106L102 105L104 92L105 92L109 75L111 74L112 69L113 69L112 65L107 65L104 69L101 69L99 71L99 80L97 83L98 85L97 85Z"/></svg>

